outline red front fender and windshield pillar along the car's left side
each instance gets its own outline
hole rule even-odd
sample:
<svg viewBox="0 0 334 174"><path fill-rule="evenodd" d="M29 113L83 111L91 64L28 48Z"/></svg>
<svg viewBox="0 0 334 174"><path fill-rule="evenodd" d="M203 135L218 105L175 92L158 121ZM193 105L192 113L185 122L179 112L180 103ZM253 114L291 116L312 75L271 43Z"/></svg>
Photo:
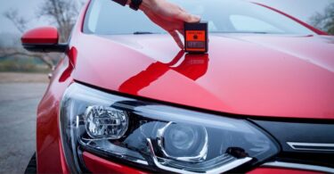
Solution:
<svg viewBox="0 0 334 174"><path fill-rule="evenodd" d="M89 3L89 1L88 1ZM77 26L82 26L86 9L80 13ZM81 27L76 27L80 32ZM73 34L75 36L75 34ZM73 39L74 40L74 39ZM37 109L37 172L38 173L69 173L61 147L59 129L59 104L67 87L73 82L71 77L73 64L77 59L77 50L72 46L68 55L61 59L53 71L49 87ZM70 61L69 61L70 60Z"/></svg>

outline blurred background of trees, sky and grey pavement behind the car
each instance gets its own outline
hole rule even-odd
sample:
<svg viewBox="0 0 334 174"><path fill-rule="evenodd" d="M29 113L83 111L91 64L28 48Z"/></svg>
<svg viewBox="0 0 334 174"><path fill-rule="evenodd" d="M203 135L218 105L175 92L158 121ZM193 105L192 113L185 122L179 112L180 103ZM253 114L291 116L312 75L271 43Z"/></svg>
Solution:
<svg viewBox="0 0 334 174"><path fill-rule="evenodd" d="M334 0L251 0L334 35ZM52 25L66 42L86 0L0 0L0 173L23 173L36 151L37 104L60 54L22 49L28 29Z"/></svg>

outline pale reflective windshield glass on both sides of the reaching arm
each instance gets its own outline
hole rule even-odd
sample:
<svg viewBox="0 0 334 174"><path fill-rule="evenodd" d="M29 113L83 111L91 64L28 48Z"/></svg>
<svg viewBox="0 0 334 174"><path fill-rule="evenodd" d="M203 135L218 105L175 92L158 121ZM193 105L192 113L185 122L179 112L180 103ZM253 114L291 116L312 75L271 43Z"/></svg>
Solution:
<svg viewBox="0 0 334 174"><path fill-rule="evenodd" d="M279 12L242 0L169 1L208 21L211 33L315 34ZM143 12L135 12L111 0L92 1L84 32L98 35L165 33Z"/></svg>

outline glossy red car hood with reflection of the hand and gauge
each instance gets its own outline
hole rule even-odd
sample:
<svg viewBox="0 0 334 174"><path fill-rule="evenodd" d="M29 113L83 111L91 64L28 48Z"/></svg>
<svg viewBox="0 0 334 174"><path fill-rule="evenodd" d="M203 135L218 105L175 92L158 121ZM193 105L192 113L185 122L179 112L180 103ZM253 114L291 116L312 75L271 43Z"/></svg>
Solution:
<svg viewBox="0 0 334 174"><path fill-rule="evenodd" d="M238 114L334 119L334 38L217 34L208 54L167 35L78 37L75 80L128 95Z"/></svg>

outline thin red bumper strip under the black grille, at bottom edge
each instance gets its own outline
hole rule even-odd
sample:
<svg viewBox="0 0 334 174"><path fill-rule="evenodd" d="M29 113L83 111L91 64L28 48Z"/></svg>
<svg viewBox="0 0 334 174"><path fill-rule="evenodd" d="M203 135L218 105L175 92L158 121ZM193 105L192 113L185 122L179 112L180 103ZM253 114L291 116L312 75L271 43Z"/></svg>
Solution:
<svg viewBox="0 0 334 174"><path fill-rule="evenodd" d="M280 168L257 168L251 170L248 174L318 174L321 172L309 171L309 170L290 170Z"/></svg>

